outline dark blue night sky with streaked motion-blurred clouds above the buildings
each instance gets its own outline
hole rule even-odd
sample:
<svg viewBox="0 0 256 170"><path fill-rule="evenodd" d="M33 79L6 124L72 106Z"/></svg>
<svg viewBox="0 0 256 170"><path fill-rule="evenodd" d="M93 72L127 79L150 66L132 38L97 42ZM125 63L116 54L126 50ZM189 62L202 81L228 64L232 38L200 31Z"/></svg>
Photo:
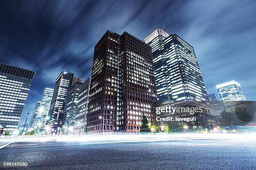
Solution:
<svg viewBox="0 0 256 170"><path fill-rule="evenodd" d="M163 28L195 48L208 94L236 80L256 100L255 9L253 0L1 1L0 62L36 71L23 110L32 112L61 70L91 75L94 45L106 30L143 40Z"/></svg>

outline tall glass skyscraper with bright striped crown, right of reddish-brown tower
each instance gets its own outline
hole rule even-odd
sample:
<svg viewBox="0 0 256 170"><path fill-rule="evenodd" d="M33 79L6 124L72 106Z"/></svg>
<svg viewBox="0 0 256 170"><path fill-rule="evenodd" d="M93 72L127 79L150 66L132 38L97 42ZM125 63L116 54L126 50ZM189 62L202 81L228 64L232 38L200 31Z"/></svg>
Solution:
<svg viewBox="0 0 256 170"><path fill-rule="evenodd" d="M197 57L189 43L161 28L144 41L152 47L159 105L207 100Z"/></svg>

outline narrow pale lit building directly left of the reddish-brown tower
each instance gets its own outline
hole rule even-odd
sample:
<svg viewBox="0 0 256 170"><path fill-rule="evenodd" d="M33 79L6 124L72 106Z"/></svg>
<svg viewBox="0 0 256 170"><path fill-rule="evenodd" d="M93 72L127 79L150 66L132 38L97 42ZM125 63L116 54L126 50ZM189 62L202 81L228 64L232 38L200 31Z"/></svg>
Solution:
<svg viewBox="0 0 256 170"><path fill-rule="evenodd" d="M88 111L90 83L91 77L85 80L85 82L83 82L80 86L80 91L78 95L77 114L74 123L74 132L78 134L86 132L86 118Z"/></svg>

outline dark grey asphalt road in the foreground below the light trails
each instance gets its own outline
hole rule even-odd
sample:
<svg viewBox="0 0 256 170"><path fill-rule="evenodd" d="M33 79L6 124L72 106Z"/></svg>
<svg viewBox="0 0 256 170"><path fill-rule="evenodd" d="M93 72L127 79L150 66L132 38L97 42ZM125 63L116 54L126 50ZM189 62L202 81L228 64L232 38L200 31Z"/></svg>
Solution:
<svg viewBox="0 0 256 170"><path fill-rule="evenodd" d="M256 142L187 140L86 144L15 142L0 149L18 170L256 170Z"/></svg>

